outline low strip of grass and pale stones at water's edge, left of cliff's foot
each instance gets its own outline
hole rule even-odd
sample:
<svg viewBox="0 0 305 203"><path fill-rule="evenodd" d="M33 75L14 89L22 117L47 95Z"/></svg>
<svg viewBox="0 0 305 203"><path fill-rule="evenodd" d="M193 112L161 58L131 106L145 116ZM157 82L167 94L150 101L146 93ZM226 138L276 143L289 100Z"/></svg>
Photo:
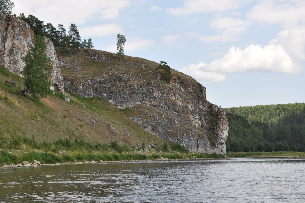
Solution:
<svg viewBox="0 0 305 203"><path fill-rule="evenodd" d="M180 152L160 153L115 153L115 152L39 152L13 153L0 152L0 168L54 166L63 164L109 163L124 161L151 161L151 160L188 160L199 158L221 158L219 154L199 154ZM91 161L88 161L91 160Z"/></svg>

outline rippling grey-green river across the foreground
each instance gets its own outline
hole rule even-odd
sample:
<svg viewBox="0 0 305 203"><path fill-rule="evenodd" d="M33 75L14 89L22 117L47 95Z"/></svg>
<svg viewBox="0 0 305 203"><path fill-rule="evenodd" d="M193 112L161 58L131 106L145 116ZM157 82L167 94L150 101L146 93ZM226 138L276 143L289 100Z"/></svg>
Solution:
<svg viewBox="0 0 305 203"><path fill-rule="evenodd" d="M228 158L0 169L0 202L305 202L305 160Z"/></svg>

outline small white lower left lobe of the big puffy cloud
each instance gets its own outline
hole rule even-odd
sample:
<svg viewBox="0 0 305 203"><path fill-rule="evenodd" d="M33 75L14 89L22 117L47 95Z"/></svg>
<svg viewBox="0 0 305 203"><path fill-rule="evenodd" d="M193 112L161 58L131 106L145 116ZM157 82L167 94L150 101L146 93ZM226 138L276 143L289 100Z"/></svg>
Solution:
<svg viewBox="0 0 305 203"><path fill-rule="evenodd" d="M183 67L179 71L192 76L197 81L203 82L221 82L226 79L226 76L223 74L215 73L215 72L206 72L204 71L204 67L206 64L204 62L200 62L199 64L190 64L188 67Z"/></svg>

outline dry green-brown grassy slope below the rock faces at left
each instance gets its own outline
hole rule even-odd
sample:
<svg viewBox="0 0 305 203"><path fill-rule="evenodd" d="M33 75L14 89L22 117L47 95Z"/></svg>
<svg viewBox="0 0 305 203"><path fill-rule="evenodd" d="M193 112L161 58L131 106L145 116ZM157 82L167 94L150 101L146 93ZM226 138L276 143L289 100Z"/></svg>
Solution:
<svg viewBox="0 0 305 203"><path fill-rule="evenodd" d="M5 81L16 83L13 87ZM41 101L20 94L23 79L0 68L0 133L3 137L20 136L38 142L54 142L59 138L83 139L92 143L123 145L156 143L163 140L144 131L127 118L126 111L101 98L81 98L73 94L51 92ZM71 102L65 101L70 98ZM86 108L81 107L85 105ZM91 119L95 123L91 122ZM112 126L115 131L111 129ZM0 138L1 139L1 138Z"/></svg>

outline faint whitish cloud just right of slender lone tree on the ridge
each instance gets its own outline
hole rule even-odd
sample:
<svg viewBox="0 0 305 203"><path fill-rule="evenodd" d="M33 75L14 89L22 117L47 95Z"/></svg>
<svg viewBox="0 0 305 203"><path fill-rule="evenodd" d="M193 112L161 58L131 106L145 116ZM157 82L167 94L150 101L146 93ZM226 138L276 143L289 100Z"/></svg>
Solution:
<svg viewBox="0 0 305 203"><path fill-rule="evenodd" d="M140 51L148 49L153 46L156 41L151 39L142 39L139 37L133 37L126 40L126 44L124 45L124 49L126 51Z"/></svg>

